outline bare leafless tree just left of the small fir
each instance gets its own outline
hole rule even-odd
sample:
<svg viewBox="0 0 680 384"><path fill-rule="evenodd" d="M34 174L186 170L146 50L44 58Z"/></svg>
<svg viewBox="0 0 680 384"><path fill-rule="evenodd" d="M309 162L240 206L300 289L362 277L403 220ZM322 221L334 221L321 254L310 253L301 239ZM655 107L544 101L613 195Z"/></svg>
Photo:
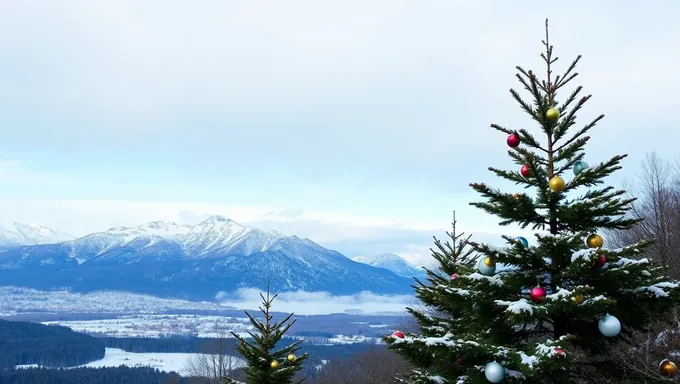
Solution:
<svg viewBox="0 0 680 384"><path fill-rule="evenodd" d="M225 376L238 379L243 367L240 359L234 356L236 339L220 336L206 342L201 352L193 355L187 362L186 371L201 384L219 384Z"/></svg>

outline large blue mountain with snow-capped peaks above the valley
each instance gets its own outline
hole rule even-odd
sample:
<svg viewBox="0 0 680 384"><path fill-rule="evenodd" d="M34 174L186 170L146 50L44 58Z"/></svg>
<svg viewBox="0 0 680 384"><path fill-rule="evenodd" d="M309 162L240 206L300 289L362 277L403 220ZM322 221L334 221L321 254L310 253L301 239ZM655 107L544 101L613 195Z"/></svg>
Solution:
<svg viewBox="0 0 680 384"><path fill-rule="evenodd" d="M5 286L212 300L239 288L265 289L268 281L276 292L412 293L410 278L221 216L195 225L155 221L111 228L56 244L35 237L0 252Z"/></svg>

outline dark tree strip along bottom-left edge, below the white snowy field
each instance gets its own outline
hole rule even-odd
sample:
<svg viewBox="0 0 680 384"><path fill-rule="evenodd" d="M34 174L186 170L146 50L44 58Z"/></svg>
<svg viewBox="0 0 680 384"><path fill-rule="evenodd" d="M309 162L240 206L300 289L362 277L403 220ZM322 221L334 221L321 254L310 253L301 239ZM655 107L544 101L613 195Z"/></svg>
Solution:
<svg viewBox="0 0 680 384"><path fill-rule="evenodd" d="M73 368L0 370L0 383L7 384L188 384L191 379L153 368Z"/></svg>

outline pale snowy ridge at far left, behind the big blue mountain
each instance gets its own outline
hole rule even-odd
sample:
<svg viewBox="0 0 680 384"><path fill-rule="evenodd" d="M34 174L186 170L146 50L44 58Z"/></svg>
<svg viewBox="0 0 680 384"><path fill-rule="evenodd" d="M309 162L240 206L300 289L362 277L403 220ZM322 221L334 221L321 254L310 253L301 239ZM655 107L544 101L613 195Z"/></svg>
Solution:
<svg viewBox="0 0 680 384"><path fill-rule="evenodd" d="M72 240L73 236L42 224L12 222L0 225L0 248L36 244L57 244Z"/></svg>

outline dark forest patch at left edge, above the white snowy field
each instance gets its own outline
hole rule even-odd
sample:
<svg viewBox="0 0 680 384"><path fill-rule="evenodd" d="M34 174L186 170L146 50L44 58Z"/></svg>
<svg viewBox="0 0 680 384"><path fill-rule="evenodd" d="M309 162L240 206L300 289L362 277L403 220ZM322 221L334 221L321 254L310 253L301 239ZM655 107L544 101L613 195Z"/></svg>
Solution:
<svg viewBox="0 0 680 384"><path fill-rule="evenodd" d="M0 320L0 368L72 367L104 357L104 341L57 325Z"/></svg>

